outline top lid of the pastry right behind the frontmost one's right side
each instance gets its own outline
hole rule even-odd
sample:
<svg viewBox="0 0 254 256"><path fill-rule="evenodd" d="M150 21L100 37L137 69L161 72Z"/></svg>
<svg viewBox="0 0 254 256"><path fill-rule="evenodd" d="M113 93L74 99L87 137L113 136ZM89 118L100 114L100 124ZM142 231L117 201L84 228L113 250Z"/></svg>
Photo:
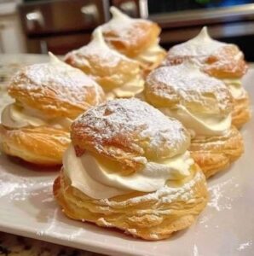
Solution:
<svg viewBox="0 0 254 256"><path fill-rule="evenodd" d="M155 69L147 77L145 94L148 102L161 108L182 104L195 113L227 115L232 111L233 99L227 86L200 72L191 61Z"/></svg>

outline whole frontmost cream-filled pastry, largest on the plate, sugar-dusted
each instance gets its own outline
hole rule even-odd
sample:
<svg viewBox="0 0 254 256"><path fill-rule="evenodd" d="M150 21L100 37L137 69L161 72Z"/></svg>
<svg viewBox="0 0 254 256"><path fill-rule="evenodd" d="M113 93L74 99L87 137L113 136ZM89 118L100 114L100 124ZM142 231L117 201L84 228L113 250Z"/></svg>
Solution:
<svg viewBox="0 0 254 256"><path fill-rule="evenodd" d="M159 240L204 209L205 176L187 151L188 131L146 102L91 108L71 137L53 188L69 218Z"/></svg>

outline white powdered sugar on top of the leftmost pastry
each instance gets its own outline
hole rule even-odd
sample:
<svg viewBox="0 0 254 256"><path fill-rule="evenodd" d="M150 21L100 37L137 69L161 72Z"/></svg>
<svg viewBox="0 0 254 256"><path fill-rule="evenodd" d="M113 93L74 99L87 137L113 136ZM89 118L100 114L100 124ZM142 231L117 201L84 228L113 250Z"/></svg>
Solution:
<svg viewBox="0 0 254 256"><path fill-rule="evenodd" d="M32 90L33 97L52 90L62 101L84 102L85 88L99 86L82 71L51 55L49 63L23 67L13 79L17 89Z"/></svg>

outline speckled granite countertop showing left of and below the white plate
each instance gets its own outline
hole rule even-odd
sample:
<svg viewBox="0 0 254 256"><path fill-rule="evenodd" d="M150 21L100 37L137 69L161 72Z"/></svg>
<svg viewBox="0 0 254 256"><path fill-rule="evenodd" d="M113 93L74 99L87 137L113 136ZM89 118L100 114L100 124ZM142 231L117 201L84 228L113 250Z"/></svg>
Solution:
<svg viewBox="0 0 254 256"><path fill-rule="evenodd" d="M0 55L0 102L1 106L11 101L7 84L20 67L48 61L48 55ZM3 107L2 107L3 108ZM2 112L0 108L0 113ZM102 254L63 247L46 241L0 232L0 255L4 256L99 256Z"/></svg>

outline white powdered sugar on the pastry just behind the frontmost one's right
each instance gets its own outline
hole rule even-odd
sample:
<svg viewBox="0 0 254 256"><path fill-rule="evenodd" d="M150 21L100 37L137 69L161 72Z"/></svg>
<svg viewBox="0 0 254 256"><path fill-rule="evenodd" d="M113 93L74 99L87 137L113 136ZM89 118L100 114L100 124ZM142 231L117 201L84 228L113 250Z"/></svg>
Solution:
<svg viewBox="0 0 254 256"><path fill-rule="evenodd" d="M208 99L212 99L222 111L230 106L231 96L227 86L222 81L201 73L199 67L190 61L155 69L147 77L147 86L156 84L164 85L161 89L158 87L155 93L165 98L180 97L182 103L198 102L203 106L207 105ZM165 86L171 90L165 90Z"/></svg>

